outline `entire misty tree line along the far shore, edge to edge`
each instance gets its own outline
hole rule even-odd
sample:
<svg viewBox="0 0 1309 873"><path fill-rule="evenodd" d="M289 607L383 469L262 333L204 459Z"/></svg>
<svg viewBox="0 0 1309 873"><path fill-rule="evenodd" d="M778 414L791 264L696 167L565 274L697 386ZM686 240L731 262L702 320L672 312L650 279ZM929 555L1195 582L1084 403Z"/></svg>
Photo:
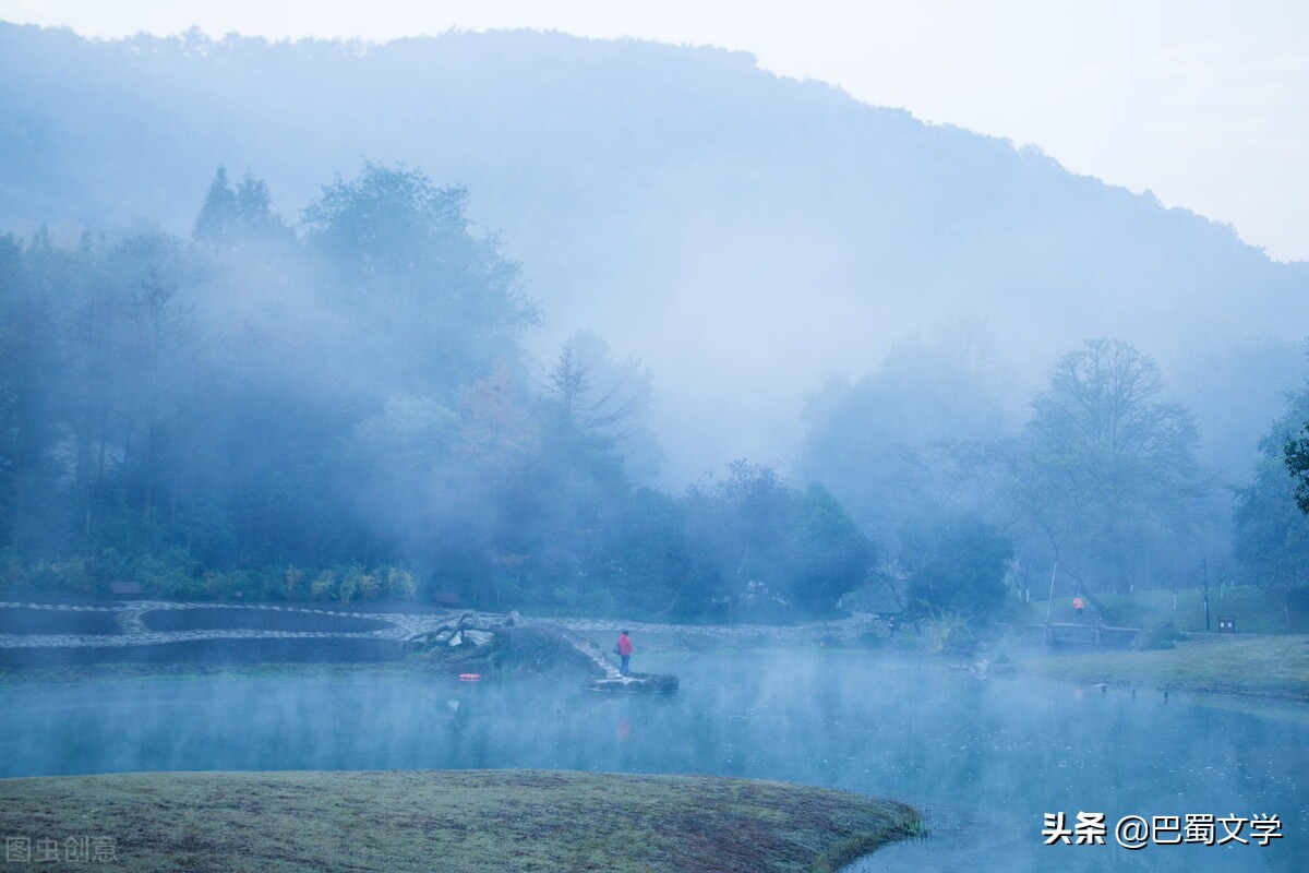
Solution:
<svg viewBox="0 0 1309 873"><path fill-rule="evenodd" d="M865 584L988 616L1055 581L1194 584L1215 552L1304 579L1309 386L1232 513L1194 416L1113 339L1011 433L994 355L906 343L814 394L788 476L654 490L649 370L590 332L534 365L538 306L466 205L368 164L292 225L220 169L188 240L0 237L0 585L745 620Z"/></svg>

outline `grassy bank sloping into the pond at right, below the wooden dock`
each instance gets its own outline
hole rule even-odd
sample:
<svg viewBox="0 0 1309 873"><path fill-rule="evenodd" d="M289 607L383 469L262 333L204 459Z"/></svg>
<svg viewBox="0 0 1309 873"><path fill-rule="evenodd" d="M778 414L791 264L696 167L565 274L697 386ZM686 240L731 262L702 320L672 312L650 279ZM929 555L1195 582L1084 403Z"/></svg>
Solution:
<svg viewBox="0 0 1309 873"><path fill-rule="evenodd" d="M1018 666L1026 673L1084 685L1107 682L1309 702L1309 635L1302 633L1183 641L1175 649L1149 652L1028 654L1018 658Z"/></svg>

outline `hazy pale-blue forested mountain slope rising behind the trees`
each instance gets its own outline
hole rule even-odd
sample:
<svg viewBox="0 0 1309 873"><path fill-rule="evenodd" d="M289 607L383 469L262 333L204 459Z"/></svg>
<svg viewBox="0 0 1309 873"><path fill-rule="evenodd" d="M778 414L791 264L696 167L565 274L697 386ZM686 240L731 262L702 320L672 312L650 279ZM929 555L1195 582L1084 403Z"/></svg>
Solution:
<svg viewBox="0 0 1309 873"><path fill-rule="evenodd" d="M669 484L740 455L784 466L825 374L859 378L919 334L997 349L1014 418L1081 339L1132 342L1236 474L1309 332L1309 263L740 52L0 24L0 228L20 233L186 234L220 164L291 219L364 160L467 186L541 304L542 357L593 329L652 368Z"/></svg>

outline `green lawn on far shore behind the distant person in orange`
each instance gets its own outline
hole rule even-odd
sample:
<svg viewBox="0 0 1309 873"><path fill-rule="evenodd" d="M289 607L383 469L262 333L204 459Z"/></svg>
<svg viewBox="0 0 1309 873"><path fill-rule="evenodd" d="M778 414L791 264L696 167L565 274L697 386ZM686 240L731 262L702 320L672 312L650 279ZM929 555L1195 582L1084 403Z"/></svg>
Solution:
<svg viewBox="0 0 1309 873"><path fill-rule="evenodd" d="M1284 592L1284 589L1283 589ZM1278 592L1279 597L1283 592ZM1172 622L1178 631L1204 631L1204 592L1187 588L1177 592L1177 609L1173 609L1173 593L1166 590L1136 590L1131 594L1097 594L1111 613L1113 623L1119 627L1151 627L1158 622ZM1291 596L1291 632L1309 632L1309 586L1293 590ZM1238 633L1287 633L1287 613L1278 598L1267 589L1255 586L1210 588L1210 630L1219 630L1219 616L1236 619ZM1086 605L1086 620L1097 618L1096 609ZM1050 602L1050 619L1071 622L1072 598L1056 597ZM1041 624L1046 620L1046 601L1035 601L1021 606L1014 615L1016 623Z"/></svg>

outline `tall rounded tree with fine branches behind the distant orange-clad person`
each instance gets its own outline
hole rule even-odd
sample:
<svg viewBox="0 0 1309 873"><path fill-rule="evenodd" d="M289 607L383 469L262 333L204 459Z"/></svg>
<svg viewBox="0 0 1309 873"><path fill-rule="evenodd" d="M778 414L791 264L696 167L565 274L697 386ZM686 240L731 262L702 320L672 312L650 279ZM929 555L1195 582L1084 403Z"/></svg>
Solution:
<svg viewBox="0 0 1309 873"><path fill-rule="evenodd" d="M1161 399L1155 361L1121 340L1066 355L1033 401L1013 501L1084 589L1127 592L1148 560L1181 559L1206 486L1190 412Z"/></svg>

